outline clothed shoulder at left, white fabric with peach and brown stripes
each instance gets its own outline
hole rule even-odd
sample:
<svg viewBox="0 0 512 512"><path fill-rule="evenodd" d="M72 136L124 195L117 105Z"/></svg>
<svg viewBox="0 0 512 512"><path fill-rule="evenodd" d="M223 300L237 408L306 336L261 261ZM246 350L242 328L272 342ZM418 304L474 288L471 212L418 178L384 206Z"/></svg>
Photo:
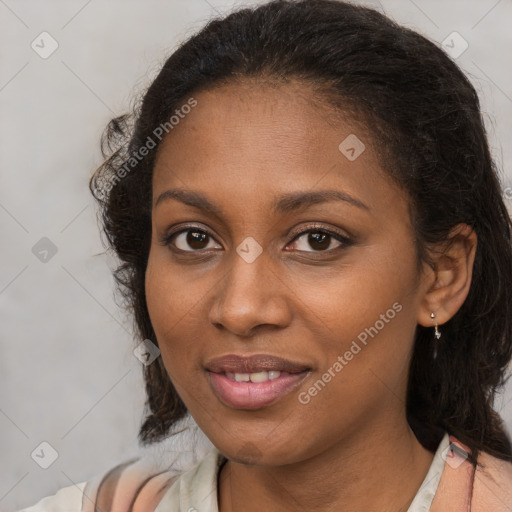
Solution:
<svg viewBox="0 0 512 512"><path fill-rule="evenodd" d="M179 476L143 458L132 459L90 481L64 487L20 512L148 512Z"/></svg>

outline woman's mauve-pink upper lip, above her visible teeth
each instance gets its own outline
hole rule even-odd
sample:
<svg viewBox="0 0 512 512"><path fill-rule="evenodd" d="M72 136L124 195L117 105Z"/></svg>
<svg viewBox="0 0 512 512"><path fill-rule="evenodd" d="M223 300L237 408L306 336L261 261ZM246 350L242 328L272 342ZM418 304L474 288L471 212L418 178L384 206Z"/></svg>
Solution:
<svg viewBox="0 0 512 512"><path fill-rule="evenodd" d="M251 356L229 354L210 359L205 366L207 370L214 373L255 373L263 371L299 373L310 369L303 363L270 354L254 354Z"/></svg>

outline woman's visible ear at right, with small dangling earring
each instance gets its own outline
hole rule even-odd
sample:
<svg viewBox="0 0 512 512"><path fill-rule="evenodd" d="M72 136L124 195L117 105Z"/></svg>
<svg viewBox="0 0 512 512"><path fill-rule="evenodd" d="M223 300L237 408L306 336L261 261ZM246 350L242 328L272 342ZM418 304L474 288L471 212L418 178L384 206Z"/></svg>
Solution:
<svg viewBox="0 0 512 512"><path fill-rule="evenodd" d="M462 306L471 286L476 246L477 236L471 226L457 224L446 242L431 249L434 265L424 276L425 293L417 319L420 325L442 325Z"/></svg>

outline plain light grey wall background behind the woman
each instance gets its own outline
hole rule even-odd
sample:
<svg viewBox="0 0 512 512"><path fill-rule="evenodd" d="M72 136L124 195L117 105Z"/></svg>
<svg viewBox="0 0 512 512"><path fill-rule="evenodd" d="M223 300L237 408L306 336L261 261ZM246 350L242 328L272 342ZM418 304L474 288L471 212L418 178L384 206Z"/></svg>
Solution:
<svg viewBox="0 0 512 512"><path fill-rule="evenodd" d="M363 3L440 44L453 31L468 42L457 62L481 94L504 186L512 185L511 3ZM87 182L107 121L179 41L242 4L250 2L0 0L2 511L138 453L141 364L113 299ZM59 44L47 59L31 48L43 31ZM46 263L32 253L42 237L57 247ZM511 399L509 387L497 404L509 429ZM42 441L59 454L46 470L31 458Z"/></svg>

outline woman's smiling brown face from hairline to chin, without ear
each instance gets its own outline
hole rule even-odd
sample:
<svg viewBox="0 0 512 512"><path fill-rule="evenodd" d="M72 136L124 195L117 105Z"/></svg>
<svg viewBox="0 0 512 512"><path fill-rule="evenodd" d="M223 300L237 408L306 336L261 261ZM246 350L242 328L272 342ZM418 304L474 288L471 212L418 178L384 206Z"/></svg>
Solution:
<svg viewBox="0 0 512 512"><path fill-rule="evenodd" d="M240 462L405 425L425 291L407 199L369 135L308 94L194 95L154 168L151 322L188 410Z"/></svg>

